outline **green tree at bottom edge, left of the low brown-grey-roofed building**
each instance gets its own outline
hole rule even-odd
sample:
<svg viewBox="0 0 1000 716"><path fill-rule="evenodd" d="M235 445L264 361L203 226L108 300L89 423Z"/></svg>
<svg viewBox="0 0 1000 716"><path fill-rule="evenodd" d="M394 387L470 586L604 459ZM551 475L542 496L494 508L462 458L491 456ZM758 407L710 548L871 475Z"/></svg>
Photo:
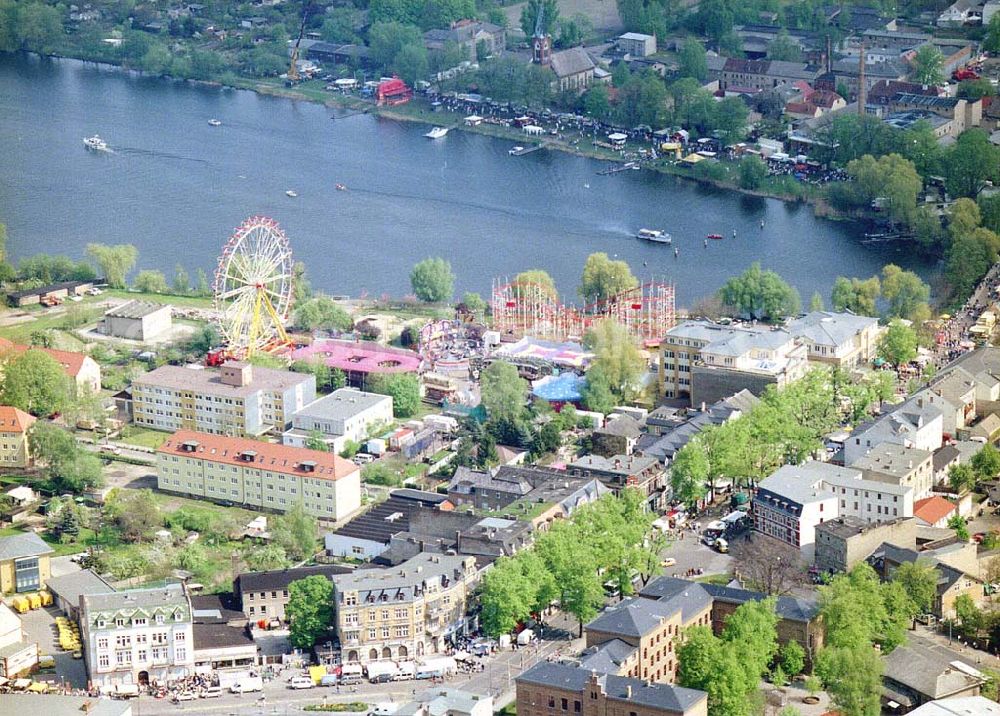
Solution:
<svg viewBox="0 0 1000 716"><path fill-rule="evenodd" d="M843 713L879 716L882 712L882 660L870 646L823 649L816 670L830 700Z"/></svg>

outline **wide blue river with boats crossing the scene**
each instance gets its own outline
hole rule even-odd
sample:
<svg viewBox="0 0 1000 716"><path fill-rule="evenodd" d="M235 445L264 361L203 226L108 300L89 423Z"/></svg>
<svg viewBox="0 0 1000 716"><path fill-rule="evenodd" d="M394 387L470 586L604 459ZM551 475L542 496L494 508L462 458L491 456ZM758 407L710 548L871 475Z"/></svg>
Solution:
<svg viewBox="0 0 1000 716"><path fill-rule="evenodd" d="M0 220L15 257L82 256L91 241L133 243L141 268L211 276L244 218L287 231L315 286L359 296L409 292L411 266L443 256L456 291L543 268L575 294L587 255L606 251L640 277L676 283L678 304L752 261L808 302L840 274L888 262L927 276L912 252L858 243L853 225L810 207L701 187L650 171L597 176L602 163L252 92L137 77L73 60L0 55ZM208 125L210 118L223 122ZM99 133L114 150L88 152ZM335 185L347 185L337 191ZM293 189L297 198L285 191ZM760 221L764 220L764 228ZM633 238L643 227L680 250ZM737 238L731 238L736 230ZM709 233L726 236L709 242Z"/></svg>

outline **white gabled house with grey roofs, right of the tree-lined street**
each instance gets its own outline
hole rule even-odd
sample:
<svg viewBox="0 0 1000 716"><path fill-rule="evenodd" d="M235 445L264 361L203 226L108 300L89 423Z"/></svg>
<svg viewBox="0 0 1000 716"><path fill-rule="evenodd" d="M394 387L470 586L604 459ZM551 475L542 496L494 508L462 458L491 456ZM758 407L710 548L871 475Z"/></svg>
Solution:
<svg viewBox="0 0 1000 716"><path fill-rule="evenodd" d="M941 447L943 435L941 408L915 396L891 412L859 425L844 443L844 464L853 464L882 443L933 452Z"/></svg>

